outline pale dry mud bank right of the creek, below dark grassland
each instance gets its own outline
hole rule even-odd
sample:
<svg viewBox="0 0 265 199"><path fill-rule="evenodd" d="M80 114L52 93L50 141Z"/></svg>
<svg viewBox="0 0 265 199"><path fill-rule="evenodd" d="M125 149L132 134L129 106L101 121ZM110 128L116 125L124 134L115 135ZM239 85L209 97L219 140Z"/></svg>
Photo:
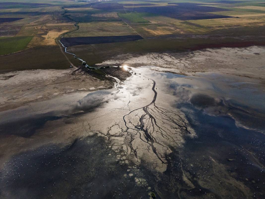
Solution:
<svg viewBox="0 0 265 199"><path fill-rule="evenodd" d="M179 73L218 72L264 79L265 47L216 48L187 53L125 54L96 66L126 64L132 67L159 66Z"/></svg>

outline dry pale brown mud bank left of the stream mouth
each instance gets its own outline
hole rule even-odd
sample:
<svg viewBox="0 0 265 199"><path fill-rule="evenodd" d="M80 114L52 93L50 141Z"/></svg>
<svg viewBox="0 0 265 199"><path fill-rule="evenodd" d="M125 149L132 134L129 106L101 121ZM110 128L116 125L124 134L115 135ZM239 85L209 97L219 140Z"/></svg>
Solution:
<svg viewBox="0 0 265 199"><path fill-rule="evenodd" d="M105 76L104 74L101 76ZM58 95L112 88L113 80L78 70L25 70L1 73L1 111Z"/></svg>

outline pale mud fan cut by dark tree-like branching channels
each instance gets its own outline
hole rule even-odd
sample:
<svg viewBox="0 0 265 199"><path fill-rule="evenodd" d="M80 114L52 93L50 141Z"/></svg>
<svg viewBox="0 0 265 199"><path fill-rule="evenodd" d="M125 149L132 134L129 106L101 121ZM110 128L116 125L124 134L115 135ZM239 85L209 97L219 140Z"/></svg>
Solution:
<svg viewBox="0 0 265 199"><path fill-rule="evenodd" d="M148 158L153 163L165 164L166 167L166 154L171 152L171 147L182 143L184 135L191 135L192 129L180 111L156 105L156 81L150 80L153 82L152 101L123 115L123 123L115 123L108 128L107 133L101 133L108 140L123 138L123 143L128 145L127 153L134 159Z"/></svg>

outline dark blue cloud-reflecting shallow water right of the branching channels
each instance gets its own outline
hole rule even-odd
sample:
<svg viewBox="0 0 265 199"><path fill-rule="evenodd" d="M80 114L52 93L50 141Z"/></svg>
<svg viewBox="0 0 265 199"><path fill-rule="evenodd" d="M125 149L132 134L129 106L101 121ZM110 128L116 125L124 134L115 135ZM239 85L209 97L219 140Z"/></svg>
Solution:
<svg viewBox="0 0 265 199"><path fill-rule="evenodd" d="M196 184L195 189L181 189L182 198L200 194L246 198L244 189L253 193L251 198L263 198L265 94L259 85L218 74L198 79L173 73L163 75L170 80L169 92L178 98L175 107L185 113L197 135L186 137L180 151L171 154L176 162L180 159L183 171ZM213 184L215 190L211 186L201 188L206 183Z"/></svg>

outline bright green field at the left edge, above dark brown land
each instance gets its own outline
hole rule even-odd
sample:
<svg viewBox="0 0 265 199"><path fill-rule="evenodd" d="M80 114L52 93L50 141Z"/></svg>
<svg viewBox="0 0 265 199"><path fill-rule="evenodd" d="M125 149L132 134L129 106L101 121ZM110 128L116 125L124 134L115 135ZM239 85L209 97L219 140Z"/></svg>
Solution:
<svg viewBox="0 0 265 199"><path fill-rule="evenodd" d="M25 49L32 38L33 36L0 37L0 55L10 54Z"/></svg>

